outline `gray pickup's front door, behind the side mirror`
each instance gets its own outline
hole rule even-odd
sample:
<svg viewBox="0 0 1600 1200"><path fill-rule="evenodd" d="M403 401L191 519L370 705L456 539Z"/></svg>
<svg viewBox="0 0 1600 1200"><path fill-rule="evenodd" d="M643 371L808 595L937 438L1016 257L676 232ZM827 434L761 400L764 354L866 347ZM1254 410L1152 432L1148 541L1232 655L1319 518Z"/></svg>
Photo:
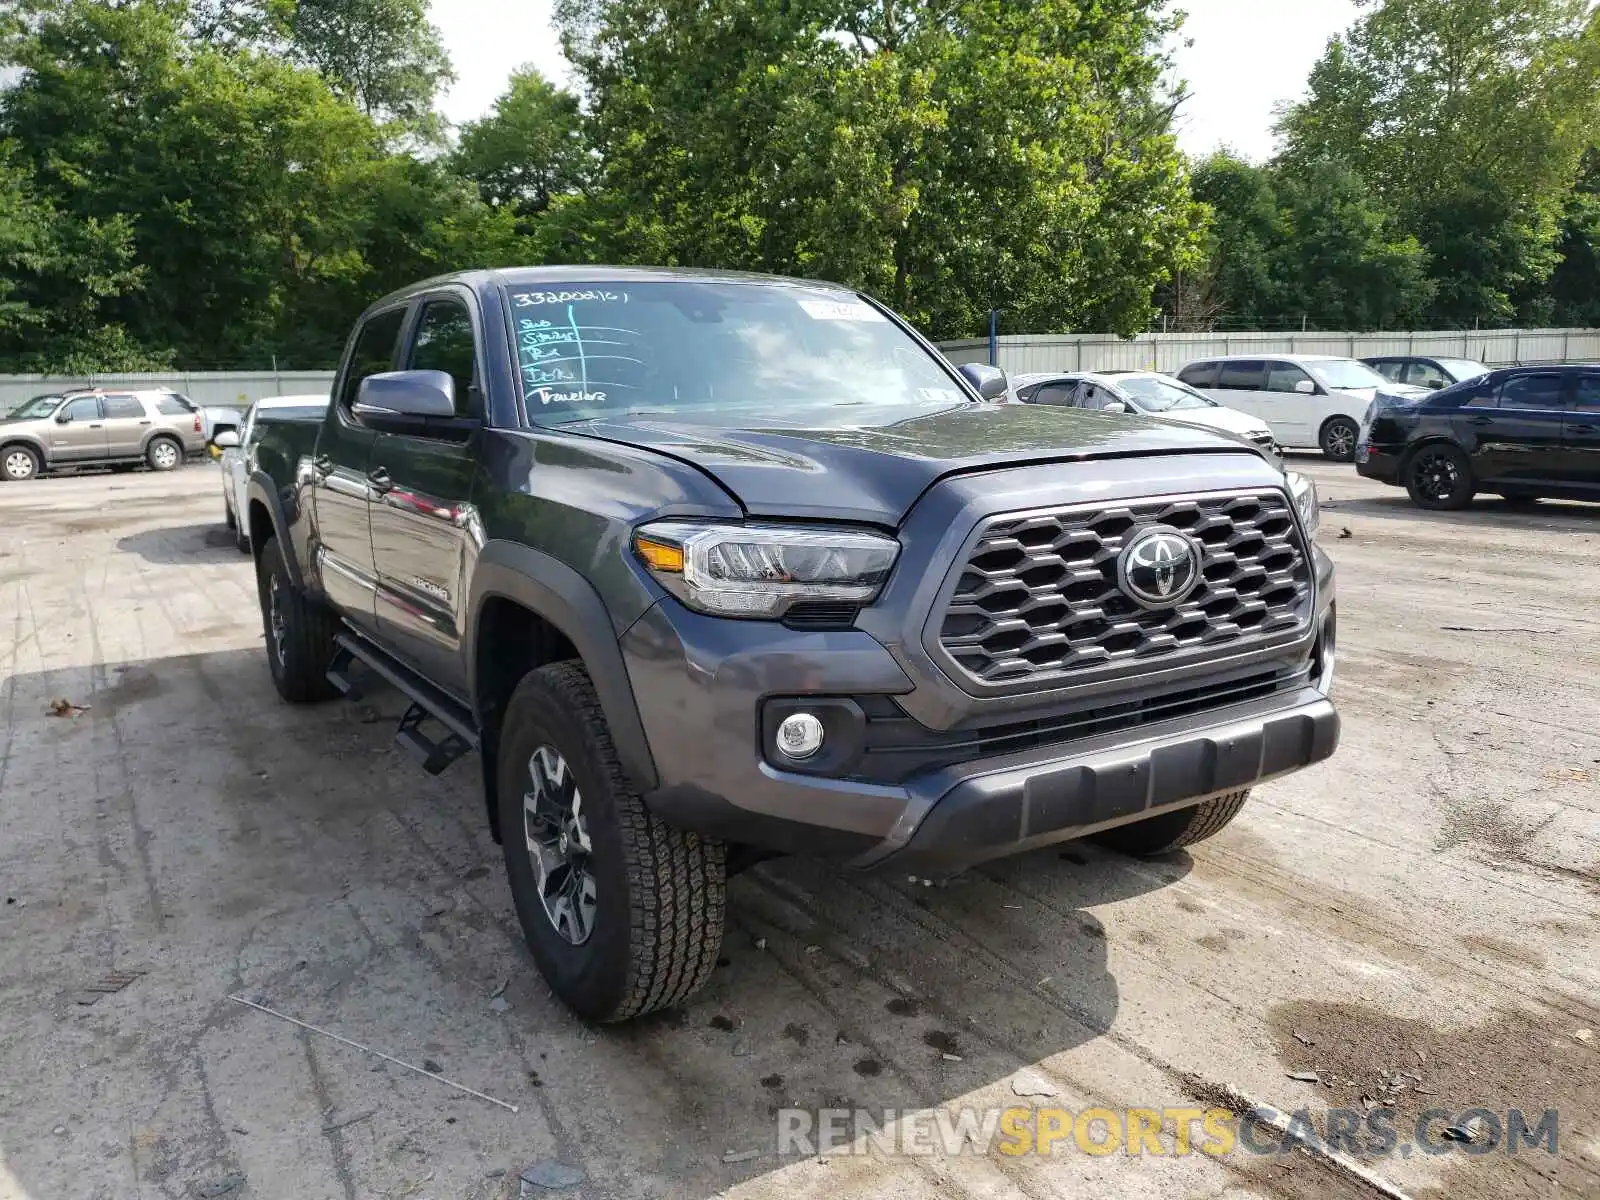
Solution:
<svg viewBox="0 0 1600 1200"><path fill-rule="evenodd" d="M429 296L403 370L445 371L456 418L373 446L373 560L384 642L434 683L466 698L466 586L477 554L474 458L482 421L478 338L467 293Z"/></svg>

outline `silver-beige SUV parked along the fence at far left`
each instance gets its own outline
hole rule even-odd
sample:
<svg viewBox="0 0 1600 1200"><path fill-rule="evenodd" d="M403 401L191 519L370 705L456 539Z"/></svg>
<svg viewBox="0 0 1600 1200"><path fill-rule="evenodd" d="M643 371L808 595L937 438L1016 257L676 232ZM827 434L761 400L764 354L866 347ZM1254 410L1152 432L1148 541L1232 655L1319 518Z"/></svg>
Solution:
<svg viewBox="0 0 1600 1200"><path fill-rule="evenodd" d="M178 392L42 395L0 419L0 480L102 462L171 470L205 442L203 414Z"/></svg>

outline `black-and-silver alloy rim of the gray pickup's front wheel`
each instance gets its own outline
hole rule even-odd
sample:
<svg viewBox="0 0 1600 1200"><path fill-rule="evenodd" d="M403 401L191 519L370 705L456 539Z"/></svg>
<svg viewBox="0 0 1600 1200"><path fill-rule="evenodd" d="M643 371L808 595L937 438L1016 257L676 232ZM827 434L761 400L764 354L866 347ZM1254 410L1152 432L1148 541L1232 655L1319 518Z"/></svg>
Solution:
<svg viewBox="0 0 1600 1200"><path fill-rule="evenodd" d="M578 776L554 746L528 758L522 818L544 915L563 939L582 946L595 928L594 846Z"/></svg>

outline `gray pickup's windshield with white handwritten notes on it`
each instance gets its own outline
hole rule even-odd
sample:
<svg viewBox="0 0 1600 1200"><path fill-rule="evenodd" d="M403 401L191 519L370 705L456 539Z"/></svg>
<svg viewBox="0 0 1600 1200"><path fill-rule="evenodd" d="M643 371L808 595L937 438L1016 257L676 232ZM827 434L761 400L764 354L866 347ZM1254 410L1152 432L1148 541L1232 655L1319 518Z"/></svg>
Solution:
<svg viewBox="0 0 1600 1200"><path fill-rule="evenodd" d="M794 283L510 290L528 419L965 403L931 354L854 293Z"/></svg>

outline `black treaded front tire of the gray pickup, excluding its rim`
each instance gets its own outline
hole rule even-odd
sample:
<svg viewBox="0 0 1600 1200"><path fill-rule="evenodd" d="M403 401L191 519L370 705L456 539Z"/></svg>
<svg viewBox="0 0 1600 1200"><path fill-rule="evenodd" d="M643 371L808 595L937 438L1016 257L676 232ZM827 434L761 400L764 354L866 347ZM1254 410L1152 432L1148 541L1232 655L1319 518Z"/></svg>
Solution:
<svg viewBox="0 0 1600 1200"><path fill-rule="evenodd" d="M573 946L546 915L523 819L528 763L554 747L573 771L594 846L595 917ZM528 672L499 734L499 830L523 936L546 982L587 1021L626 1021L693 995L722 949L726 848L661 821L616 757L579 662Z"/></svg>

